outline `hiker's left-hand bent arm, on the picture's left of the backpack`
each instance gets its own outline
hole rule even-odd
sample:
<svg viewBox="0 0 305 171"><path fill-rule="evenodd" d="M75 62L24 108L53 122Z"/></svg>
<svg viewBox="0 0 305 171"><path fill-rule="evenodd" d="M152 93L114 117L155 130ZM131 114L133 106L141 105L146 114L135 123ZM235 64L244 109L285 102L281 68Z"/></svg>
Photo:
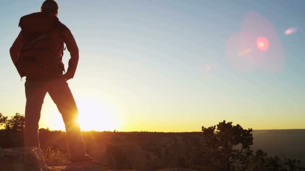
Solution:
<svg viewBox="0 0 305 171"><path fill-rule="evenodd" d="M19 53L20 47L21 47L21 45L22 45L22 43L23 43L23 39L24 39L23 34L22 34L22 32L20 31L18 37L16 38L16 40L14 41L12 47L10 48L11 58L12 58L12 61L13 61L13 63L14 63L15 66L16 66L16 63L17 63L18 53ZM20 75L21 77L25 76L24 73L22 73L22 72L18 69L17 66L16 66L16 68L17 68L17 71L18 71L18 73L19 73L19 75Z"/></svg>

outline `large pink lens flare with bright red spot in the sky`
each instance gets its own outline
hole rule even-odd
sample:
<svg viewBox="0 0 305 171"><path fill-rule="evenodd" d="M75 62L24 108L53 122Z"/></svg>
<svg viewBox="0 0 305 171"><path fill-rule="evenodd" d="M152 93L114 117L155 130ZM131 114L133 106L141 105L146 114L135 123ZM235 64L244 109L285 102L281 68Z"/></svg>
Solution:
<svg viewBox="0 0 305 171"><path fill-rule="evenodd" d="M284 68L284 50L274 26L255 11L247 13L240 32L228 38L226 56L240 71L276 72Z"/></svg>

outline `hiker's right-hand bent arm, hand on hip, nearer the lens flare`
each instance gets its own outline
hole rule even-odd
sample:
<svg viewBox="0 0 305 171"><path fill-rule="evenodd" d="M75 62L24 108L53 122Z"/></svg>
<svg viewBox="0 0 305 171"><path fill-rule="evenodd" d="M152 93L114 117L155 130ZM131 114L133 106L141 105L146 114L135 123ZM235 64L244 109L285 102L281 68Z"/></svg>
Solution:
<svg viewBox="0 0 305 171"><path fill-rule="evenodd" d="M74 77L79 59L79 52L76 41L70 29L66 26L64 26L64 29L62 31L62 37L65 44L67 45L67 49L70 52L70 56L71 56L71 58L69 59L67 72L65 73L65 77L68 80Z"/></svg>

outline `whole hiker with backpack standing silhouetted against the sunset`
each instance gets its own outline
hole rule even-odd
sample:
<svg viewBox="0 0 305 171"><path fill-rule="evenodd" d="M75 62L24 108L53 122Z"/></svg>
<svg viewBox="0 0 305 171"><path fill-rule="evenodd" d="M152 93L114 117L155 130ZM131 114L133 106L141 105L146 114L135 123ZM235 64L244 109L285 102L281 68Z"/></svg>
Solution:
<svg viewBox="0 0 305 171"><path fill-rule="evenodd" d="M21 17L21 31L10 48L21 77L26 76L25 146L40 147L38 138L42 104L48 92L65 123L70 160L93 160L86 154L78 109L67 80L74 77L79 51L70 29L57 17L58 4L45 0L41 11ZM64 43L70 52L68 69L62 62Z"/></svg>

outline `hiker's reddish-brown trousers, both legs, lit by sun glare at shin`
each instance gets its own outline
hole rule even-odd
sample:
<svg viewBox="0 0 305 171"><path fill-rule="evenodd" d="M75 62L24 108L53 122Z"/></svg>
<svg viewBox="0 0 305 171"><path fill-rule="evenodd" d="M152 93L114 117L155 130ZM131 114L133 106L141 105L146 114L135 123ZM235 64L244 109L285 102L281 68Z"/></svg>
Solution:
<svg viewBox="0 0 305 171"><path fill-rule="evenodd" d="M84 156L85 146L78 123L78 110L67 81L64 78L44 81L27 80L25 89L27 98L25 146L39 147L38 122L42 104L48 92L64 120L71 157Z"/></svg>

